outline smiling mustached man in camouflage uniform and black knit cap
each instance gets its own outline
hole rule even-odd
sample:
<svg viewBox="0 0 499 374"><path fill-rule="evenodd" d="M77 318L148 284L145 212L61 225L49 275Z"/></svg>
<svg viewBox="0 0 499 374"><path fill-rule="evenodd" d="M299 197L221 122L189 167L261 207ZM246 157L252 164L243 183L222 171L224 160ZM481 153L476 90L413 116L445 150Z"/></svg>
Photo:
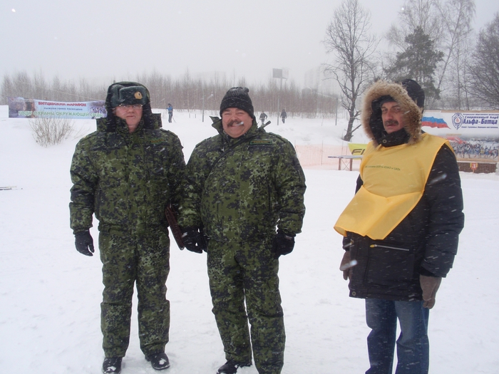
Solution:
<svg viewBox="0 0 499 374"><path fill-rule="evenodd" d="M187 249L207 250L213 313L227 359L217 373L251 365L253 352L258 373L279 374L285 334L278 258L292 251L301 231L306 186L292 145L257 128L248 93L242 87L227 91L222 119L212 118L219 135L192 152L179 224Z"/></svg>

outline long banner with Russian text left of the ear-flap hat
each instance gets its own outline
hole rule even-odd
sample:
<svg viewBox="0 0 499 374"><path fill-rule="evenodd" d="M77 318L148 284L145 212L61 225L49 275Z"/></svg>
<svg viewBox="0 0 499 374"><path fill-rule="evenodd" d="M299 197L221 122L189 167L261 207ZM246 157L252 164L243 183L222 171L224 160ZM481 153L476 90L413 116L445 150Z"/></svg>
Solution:
<svg viewBox="0 0 499 374"><path fill-rule="evenodd" d="M106 117L104 100L62 102L8 98L9 118L70 118L93 120Z"/></svg>

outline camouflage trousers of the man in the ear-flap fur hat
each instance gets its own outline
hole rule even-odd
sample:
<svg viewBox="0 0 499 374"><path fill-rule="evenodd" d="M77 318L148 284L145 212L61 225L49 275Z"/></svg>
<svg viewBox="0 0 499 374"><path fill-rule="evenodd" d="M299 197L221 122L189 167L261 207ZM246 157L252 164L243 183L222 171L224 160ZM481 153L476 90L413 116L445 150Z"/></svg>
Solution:
<svg viewBox="0 0 499 374"><path fill-rule="evenodd" d="M138 336L145 355L164 352L170 330L166 279L170 272L168 232L130 237L125 232L99 234L103 301L101 331L106 357L123 357L130 342L133 286L138 297Z"/></svg>

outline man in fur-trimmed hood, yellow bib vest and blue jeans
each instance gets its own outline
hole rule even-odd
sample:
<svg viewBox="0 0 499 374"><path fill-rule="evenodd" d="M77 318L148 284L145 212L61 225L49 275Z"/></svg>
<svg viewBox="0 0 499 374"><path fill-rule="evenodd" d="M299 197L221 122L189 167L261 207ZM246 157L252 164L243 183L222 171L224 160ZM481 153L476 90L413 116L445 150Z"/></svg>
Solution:
<svg viewBox="0 0 499 374"><path fill-rule="evenodd" d="M356 194L334 229L350 296L366 299L366 374L428 373L428 315L463 229L463 194L448 141L422 133L424 91L414 80L371 85ZM396 341L397 320L401 334Z"/></svg>

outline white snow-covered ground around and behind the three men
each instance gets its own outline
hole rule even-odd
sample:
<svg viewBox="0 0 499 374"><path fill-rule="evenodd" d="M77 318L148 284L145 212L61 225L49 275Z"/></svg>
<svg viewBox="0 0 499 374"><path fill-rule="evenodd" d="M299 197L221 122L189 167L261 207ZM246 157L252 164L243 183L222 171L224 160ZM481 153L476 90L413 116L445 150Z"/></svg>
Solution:
<svg viewBox="0 0 499 374"><path fill-rule="evenodd" d="M205 113L206 114L206 113ZM0 107L0 373L100 373L101 263L73 245L69 165L77 139L42 148L28 120ZM175 113L164 127L179 135L186 160L215 135L210 118ZM267 128L293 143L340 144L344 123L276 118ZM79 120L81 134L95 127ZM356 141L362 142L359 137ZM281 259L287 330L283 374L364 373L364 301L349 298L338 270L343 254L333 224L351 199L357 172L305 170L307 214L295 250ZM498 373L499 182L463 175L465 229L454 269L431 311L431 373ZM92 229L94 239L98 232ZM171 248L167 282L172 318L166 347L171 374L214 374L225 362L211 313L205 254ZM135 312L134 312L135 313ZM123 374L155 373L138 347L133 317ZM254 368L240 370L255 374Z"/></svg>

